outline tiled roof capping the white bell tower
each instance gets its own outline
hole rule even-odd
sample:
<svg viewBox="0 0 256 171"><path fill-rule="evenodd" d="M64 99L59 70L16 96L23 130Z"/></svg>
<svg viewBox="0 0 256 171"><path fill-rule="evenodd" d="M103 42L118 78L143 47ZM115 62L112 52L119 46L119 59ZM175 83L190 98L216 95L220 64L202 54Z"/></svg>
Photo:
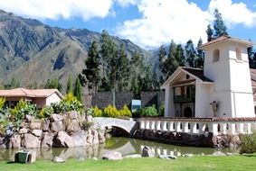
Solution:
<svg viewBox="0 0 256 171"><path fill-rule="evenodd" d="M253 42L251 42L249 40L241 40L241 39L238 39L238 38L232 38L230 36L221 36L221 37L219 37L217 39L214 39L214 40L211 40L209 42L204 43L199 48L200 49L204 49L204 48L206 48L206 47L208 47L210 45L221 43L221 42L224 42L224 41L227 41L227 40L231 40L233 42L240 42L240 43L246 45L248 48L253 45Z"/></svg>

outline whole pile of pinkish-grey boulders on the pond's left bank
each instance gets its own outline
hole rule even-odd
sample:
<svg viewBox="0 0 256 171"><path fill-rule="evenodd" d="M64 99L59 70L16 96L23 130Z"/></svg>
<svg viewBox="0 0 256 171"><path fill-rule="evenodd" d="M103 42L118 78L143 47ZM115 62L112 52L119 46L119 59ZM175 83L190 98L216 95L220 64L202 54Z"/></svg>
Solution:
<svg viewBox="0 0 256 171"><path fill-rule="evenodd" d="M17 133L0 137L0 148L72 148L105 142L103 131L82 130L81 121L86 118L78 112L52 114L43 121L26 115Z"/></svg>

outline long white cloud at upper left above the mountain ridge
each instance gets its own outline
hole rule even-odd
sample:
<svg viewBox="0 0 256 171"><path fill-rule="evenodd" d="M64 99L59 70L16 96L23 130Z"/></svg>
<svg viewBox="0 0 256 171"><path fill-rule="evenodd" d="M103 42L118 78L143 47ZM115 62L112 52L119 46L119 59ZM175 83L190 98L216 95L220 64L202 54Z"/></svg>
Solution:
<svg viewBox="0 0 256 171"><path fill-rule="evenodd" d="M74 16L90 20L110 13L113 0L0 0L0 8L14 14L39 19L69 19Z"/></svg>

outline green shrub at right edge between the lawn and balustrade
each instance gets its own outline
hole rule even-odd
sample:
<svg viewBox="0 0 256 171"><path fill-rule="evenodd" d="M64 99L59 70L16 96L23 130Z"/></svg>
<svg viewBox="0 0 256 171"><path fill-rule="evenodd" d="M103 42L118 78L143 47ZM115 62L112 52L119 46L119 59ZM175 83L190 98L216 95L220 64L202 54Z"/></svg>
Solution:
<svg viewBox="0 0 256 171"><path fill-rule="evenodd" d="M256 130L252 134L242 135L240 153L256 152Z"/></svg>

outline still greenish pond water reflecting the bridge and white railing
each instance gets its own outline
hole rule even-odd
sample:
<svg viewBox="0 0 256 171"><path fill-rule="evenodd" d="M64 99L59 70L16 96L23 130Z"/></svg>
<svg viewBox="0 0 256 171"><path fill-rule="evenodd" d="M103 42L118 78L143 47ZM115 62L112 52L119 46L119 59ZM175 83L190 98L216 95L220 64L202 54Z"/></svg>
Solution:
<svg viewBox="0 0 256 171"><path fill-rule="evenodd" d="M62 157L63 159L78 158L86 159L97 157L100 158L102 154L107 151L119 151L122 156L141 154L144 146L151 148L156 156L159 154L172 154L179 156L182 154L213 154L217 149L215 148L194 148L182 147L169 144L162 144L153 141L117 138L112 137L107 139L105 144L93 145L82 148L36 148L37 159L52 160L52 157ZM19 149L0 149L0 160L14 160L14 154ZM237 152L235 149L225 148L223 152Z"/></svg>

